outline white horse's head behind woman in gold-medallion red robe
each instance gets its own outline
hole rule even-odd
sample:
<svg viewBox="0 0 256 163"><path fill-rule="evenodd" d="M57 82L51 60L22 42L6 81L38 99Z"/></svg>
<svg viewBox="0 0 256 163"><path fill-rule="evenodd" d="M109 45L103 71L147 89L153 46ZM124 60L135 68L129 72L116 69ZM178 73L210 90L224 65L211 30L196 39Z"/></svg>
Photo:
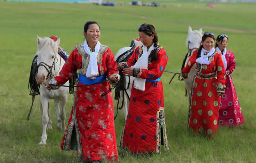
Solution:
<svg viewBox="0 0 256 163"><path fill-rule="evenodd" d="M188 37L186 39L186 46L188 47L188 51L193 48L199 48L203 36L202 33L202 28L192 31L192 28L190 26L188 27Z"/></svg>

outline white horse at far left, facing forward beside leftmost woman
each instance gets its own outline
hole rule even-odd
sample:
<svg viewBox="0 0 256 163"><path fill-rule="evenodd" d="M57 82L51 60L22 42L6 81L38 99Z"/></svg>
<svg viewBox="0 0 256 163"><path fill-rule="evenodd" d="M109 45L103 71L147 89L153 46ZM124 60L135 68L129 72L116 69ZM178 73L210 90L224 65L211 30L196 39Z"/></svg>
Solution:
<svg viewBox="0 0 256 163"><path fill-rule="evenodd" d="M60 87L57 90L50 92L45 88L45 83L48 83L52 77L58 76L65 61L58 54L60 39L54 42L51 38L41 38L37 36L38 49L36 55L38 56L37 65L38 73L36 74L36 82L40 84L40 100L43 107L43 134L39 145L45 145L47 140L46 127L52 129L52 120L49 112L49 100L54 99L54 105L57 112L57 127L65 130L65 106L68 100L68 87ZM68 85L66 82L64 85ZM60 101L60 107L59 107ZM61 108L61 109L60 109Z"/></svg>

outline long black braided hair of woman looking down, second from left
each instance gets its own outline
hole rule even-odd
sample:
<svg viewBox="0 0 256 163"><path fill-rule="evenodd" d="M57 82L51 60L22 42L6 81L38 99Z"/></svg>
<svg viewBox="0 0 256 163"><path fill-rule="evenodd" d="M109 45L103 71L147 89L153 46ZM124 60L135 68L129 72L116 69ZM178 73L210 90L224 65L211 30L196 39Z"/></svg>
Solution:
<svg viewBox="0 0 256 163"><path fill-rule="evenodd" d="M157 59L157 50L156 50L156 47L158 46L158 45L157 45L157 43L158 43L158 36L157 36L157 34L156 34L156 29L155 29L155 27L154 27L152 24L143 23L143 24L141 24L141 27L142 27L142 26L146 26L146 28L147 28L148 30L141 30L141 28L139 28L139 32L144 32L144 33L145 33L146 35L148 35L148 36L155 35L155 36L154 36L154 39L153 39L153 42L155 43L155 44L154 44L155 49L152 50L152 51L150 52L150 54L149 54L150 61L152 62L152 61L154 61L154 60Z"/></svg>

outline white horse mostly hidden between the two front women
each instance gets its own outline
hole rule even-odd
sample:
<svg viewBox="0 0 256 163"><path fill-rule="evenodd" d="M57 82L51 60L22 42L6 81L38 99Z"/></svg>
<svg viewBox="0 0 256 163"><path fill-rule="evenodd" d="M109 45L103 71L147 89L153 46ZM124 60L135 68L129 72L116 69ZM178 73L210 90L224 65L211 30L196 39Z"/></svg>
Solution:
<svg viewBox="0 0 256 163"><path fill-rule="evenodd" d="M135 43L135 48L137 48L138 46L140 46L142 44L141 41L136 41L136 40L133 40L133 41ZM119 57L125 51L130 50L130 49L131 49L131 47L124 47L124 48L119 49L116 52L115 60L116 60L117 57ZM135 79L135 77L130 76L130 85L129 85L129 88L126 90L127 94L129 95L129 98L131 97L132 83L133 83L134 79ZM125 88L127 88L128 87L128 83L129 83L129 77L128 76L126 76L124 78L123 83L124 83ZM124 98L124 106L123 106L123 109L124 109L124 121L126 121L126 118L127 118L127 115L128 115L128 109L129 109L130 101L128 100L128 98L127 98L125 93L124 93L124 97L123 97L123 94L121 93L120 94L120 98L121 98L121 101L122 101L122 98Z"/></svg>

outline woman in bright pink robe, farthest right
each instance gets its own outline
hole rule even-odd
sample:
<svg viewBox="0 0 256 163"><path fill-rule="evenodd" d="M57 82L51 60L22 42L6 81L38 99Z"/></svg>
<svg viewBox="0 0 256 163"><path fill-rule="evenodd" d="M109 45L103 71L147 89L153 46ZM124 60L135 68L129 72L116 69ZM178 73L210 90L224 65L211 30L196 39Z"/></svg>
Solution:
<svg viewBox="0 0 256 163"><path fill-rule="evenodd" d="M219 110L219 127L237 126L244 123L244 117L239 105L236 89L230 74L235 70L236 59L232 51L226 49L228 45L228 36L225 34L218 35L215 48L222 54L222 60L226 71L226 90L221 96Z"/></svg>

